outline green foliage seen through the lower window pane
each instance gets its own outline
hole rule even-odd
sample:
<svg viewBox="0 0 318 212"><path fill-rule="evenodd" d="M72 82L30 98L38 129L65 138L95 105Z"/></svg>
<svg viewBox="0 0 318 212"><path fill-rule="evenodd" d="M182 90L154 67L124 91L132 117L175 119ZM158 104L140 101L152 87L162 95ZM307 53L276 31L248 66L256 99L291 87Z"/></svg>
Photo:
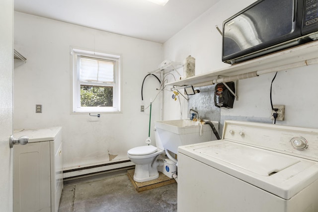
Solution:
<svg viewBox="0 0 318 212"><path fill-rule="evenodd" d="M112 107L113 87L80 85L81 107Z"/></svg>

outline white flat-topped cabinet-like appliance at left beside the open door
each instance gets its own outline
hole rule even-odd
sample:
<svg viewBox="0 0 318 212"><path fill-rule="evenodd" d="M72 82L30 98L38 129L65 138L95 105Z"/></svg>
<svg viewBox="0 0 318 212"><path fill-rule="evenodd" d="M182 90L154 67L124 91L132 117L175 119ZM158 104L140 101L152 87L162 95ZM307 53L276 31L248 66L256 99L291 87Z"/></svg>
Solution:
<svg viewBox="0 0 318 212"><path fill-rule="evenodd" d="M63 190L62 128L15 130L13 212L58 212Z"/></svg>

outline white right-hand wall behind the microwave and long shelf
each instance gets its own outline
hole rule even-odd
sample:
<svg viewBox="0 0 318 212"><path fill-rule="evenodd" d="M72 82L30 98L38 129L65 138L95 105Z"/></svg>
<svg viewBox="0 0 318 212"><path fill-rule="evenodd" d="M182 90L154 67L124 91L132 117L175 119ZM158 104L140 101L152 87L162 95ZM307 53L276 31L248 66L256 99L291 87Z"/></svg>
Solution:
<svg viewBox="0 0 318 212"><path fill-rule="evenodd" d="M215 28L222 29L227 18L239 12L254 0L220 1L163 45L163 56L174 61L183 61L188 55L196 58L196 74L218 70L229 66L222 63L222 36ZM273 83L273 104L284 104L286 121L277 124L318 127L318 65L293 70L280 71ZM181 71L182 72L182 71ZM221 124L225 119L269 122L270 120L270 84L275 73L255 78L239 80L239 100L233 109L221 109ZM170 77L170 81L172 78ZM176 105L171 103L169 92L164 93L164 119L178 118ZM199 94L196 94L199 95ZM191 98L191 97L190 97ZM201 101L196 96L197 105ZM188 107L197 107L191 102ZM183 118L188 115L187 102L183 104ZM214 105L206 105L217 110ZM200 113L200 108L198 108Z"/></svg>

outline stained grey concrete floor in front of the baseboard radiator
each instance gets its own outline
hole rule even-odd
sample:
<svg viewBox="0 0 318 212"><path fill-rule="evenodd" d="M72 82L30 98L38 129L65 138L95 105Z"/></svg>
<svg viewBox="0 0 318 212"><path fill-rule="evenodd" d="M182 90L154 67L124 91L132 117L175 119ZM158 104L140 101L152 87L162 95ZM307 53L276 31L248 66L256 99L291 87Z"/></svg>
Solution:
<svg viewBox="0 0 318 212"><path fill-rule="evenodd" d="M177 184L138 193L127 171L64 182L59 212L176 212Z"/></svg>

